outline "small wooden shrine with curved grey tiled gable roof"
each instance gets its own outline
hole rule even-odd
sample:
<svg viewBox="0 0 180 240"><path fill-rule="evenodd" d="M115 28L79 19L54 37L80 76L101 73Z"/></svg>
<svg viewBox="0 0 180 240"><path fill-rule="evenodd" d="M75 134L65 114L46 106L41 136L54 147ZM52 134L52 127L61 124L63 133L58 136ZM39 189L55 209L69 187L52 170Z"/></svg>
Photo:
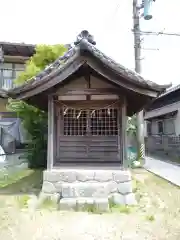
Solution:
<svg viewBox="0 0 180 240"><path fill-rule="evenodd" d="M92 35L82 31L64 56L10 93L48 111L45 185L58 169L56 180L62 181L64 168L72 174L75 167L76 178L67 180L72 183L78 180L78 168L90 166L95 171L97 167L103 170L116 166L120 170L120 166L127 166L127 116L140 111L166 89L116 63L95 45ZM123 170L118 174L123 176ZM111 176L110 181L113 173Z"/></svg>

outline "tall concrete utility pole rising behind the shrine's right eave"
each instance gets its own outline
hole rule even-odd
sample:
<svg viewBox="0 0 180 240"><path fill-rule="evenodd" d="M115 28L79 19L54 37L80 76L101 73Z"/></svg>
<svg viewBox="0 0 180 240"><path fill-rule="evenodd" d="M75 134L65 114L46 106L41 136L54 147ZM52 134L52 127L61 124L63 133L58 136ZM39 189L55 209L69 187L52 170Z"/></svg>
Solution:
<svg viewBox="0 0 180 240"><path fill-rule="evenodd" d="M133 32L134 32L134 57L135 71L141 74L141 31L140 31L140 10L144 9L144 19L150 20L151 4L155 0L142 0L142 4L138 4L138 0L133 0ZM145 160L145 143L144 143L144 114L143 111L137 114L137 143L138 143L138 159L142 163Z"/></svg>

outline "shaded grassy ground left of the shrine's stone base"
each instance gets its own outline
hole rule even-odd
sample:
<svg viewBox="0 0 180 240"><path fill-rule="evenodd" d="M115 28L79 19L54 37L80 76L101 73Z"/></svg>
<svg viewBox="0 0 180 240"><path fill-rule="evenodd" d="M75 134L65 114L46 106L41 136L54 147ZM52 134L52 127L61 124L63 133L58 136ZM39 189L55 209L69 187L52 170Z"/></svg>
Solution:
<svg viewBox="0 0 180 240"><path fill-rule="evenodd" d="M36 194L43 182L43 170L23 170L0 180L0 195Z"/></svg>

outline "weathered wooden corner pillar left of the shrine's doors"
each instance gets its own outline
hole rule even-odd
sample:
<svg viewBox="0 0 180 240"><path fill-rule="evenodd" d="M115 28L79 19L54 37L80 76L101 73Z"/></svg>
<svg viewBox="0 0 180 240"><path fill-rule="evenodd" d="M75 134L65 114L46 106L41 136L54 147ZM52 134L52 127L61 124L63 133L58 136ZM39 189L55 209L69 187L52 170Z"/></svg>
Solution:
<svg viewBox="0 0 180 240"><path fill-rule="evenodd" d="M48 149L47 149L47 169L52 169L55 156L55 111L53 96L48 96Z"/></svg>

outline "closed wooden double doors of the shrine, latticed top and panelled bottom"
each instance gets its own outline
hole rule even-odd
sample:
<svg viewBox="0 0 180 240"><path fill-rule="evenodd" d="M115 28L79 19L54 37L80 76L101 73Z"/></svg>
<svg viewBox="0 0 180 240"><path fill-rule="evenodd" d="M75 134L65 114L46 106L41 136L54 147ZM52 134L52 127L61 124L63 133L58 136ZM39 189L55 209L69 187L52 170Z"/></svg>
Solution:
<svg viewBox="0 0 180 240"><path fill-rule="evenodd" d="M117 109L63 109L62 113L60 162L119 162Z"/></svg>

